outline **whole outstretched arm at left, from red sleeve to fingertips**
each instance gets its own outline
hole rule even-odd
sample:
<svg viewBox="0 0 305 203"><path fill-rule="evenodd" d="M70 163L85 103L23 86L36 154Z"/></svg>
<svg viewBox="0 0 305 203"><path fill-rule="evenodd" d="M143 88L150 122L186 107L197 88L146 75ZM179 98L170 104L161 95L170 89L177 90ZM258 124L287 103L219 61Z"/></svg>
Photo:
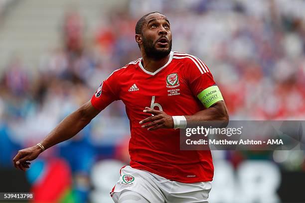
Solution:
<svg viewBox="0 0 305 203"><path fill-rule="evenodd" d="M120 69L118 69L120 70ZM88 123L99 114L110 103L119 100L118 74L114 71L104 82L101 83L91 100L76 111L63 119L41 142L41 146L35 145L18 151L13 158L16 168L23 171L29 168L30 162L38 157L38 155L47 148L57 143L70 139L81 131Z"/></svg>

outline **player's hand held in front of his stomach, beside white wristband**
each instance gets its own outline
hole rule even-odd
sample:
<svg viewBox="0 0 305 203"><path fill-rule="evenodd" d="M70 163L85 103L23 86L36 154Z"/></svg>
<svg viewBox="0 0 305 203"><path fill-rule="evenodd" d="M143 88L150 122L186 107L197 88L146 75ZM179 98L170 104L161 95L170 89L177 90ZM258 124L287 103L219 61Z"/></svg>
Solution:
<svg viewBox="0 0 305 203"><path fill-rule="evenodd" d="M154 110L149 107L145 107L145 110L143 110L143 112L153 114L151 117L145 118L144 120L141 120L139 122L140 124L147 123L145 125L142 125L143 128L148 128L148 130L150 131L159 128L173 128L173 119L165 112Z"/></svg>

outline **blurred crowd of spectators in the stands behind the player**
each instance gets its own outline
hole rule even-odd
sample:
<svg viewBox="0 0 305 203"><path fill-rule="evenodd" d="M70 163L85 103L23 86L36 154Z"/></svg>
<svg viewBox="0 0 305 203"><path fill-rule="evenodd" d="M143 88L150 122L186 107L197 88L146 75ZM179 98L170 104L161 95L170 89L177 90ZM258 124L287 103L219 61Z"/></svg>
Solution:
<svg viewBox="0 0 305 203"><path fill-rule="evenodd" d="M39 142L89 101L113 70L141 57L135 25L150 11L169 19L173 51L195 55L209 66L231 119L304 119L304 7L303 0L130 0L126 10L101 19L90 39L85 38L83 17L67 12L59 30L62 46L42 53L35 69L22 56L12 56L1 74L0 164L10 166L17 149ZM97 159L128 163L128 152L122 150L128 136L125 106L114 102L45 156L64 157L73 172L86 174ZM73 162L75 153L83 161ZM243 157L226 156L232 163Z"/></svg>

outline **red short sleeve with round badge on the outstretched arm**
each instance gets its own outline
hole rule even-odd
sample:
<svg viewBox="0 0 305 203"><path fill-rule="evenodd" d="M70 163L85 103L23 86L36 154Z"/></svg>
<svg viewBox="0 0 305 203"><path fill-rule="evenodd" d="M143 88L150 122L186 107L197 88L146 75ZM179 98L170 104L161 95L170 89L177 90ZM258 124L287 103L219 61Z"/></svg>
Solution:
<svg viewBox="0 0 305 203"><path fill-rule="evenodd" d="M119 100L118 81L116 78L117 73L115 71L98 87L98 90L91 98L91 104L95 108L103 110L110 103Z"/></svg>

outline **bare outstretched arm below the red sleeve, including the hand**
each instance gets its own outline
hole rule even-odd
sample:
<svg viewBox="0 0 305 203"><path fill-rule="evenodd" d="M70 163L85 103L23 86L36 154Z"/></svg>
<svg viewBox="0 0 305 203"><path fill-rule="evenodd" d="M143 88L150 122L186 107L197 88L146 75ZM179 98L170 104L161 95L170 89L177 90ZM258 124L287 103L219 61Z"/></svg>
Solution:
<svg viewBox="0 0 305 203"><path fill-rule="evenodd" d="M40 144L44 149L47 149L72 138L100 112L101 110L95 108L91 101L83 104L76 111L65 117ZM38 145L19 150L13 158L14 166L25 171L26 168L29 168L30 163L28 161L36 159L42 151Z"/></svg>

